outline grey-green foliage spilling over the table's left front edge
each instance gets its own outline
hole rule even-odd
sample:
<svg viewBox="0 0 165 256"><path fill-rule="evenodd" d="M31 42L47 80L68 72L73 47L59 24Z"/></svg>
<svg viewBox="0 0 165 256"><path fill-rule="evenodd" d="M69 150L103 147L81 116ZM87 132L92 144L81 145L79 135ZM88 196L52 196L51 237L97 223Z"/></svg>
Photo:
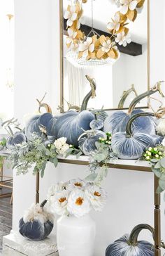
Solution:
<svg viewBox="0 0 165 256"><path fill-rule="evenodd" d="M27 174L29 168L34 167L34 174L41 172L44 175L45 167L48 161L53 162L57 167L57 152L54 143L46 143L41 136L33 134L28 142L23 142L12 148L8 160L13 168L17 168L17 174Z"/></svg>

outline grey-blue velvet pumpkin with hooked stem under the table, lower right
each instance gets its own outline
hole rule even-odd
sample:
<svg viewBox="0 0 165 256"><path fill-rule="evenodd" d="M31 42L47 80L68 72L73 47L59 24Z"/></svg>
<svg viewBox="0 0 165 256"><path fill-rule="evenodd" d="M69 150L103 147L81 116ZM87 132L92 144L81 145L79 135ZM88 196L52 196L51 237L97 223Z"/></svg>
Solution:
<svg viewBox="0 0 165 256"><path fill-rule="evenodd" d="M154 238L155 232L148 224L139 224L131 231L130 236L124 235L106 248L106 256L154 256L154 245L148 241L138 241L138 234L148 229Z"/></svg>

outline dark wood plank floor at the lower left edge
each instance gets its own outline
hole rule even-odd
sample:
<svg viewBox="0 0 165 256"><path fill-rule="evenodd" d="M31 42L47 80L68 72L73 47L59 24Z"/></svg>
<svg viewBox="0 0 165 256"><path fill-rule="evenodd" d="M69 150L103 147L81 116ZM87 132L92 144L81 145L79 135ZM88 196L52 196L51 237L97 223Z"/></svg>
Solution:
<svg viewBox="0 0 165 256"><path fill-rule="evenodd" d="M2 193L10 193L8 188L0 189ZM10 233L12 229L12 205L10 205L10 198L0 198L0 253L2 250L2 238Z"/></svg>

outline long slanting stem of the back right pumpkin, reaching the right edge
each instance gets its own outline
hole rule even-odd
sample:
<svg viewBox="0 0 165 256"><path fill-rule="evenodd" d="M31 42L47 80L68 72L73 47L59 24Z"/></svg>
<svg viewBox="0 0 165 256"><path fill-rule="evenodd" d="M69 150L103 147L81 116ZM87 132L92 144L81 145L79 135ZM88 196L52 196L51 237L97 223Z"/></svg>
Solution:
<svg viewBox="0 0 165 256"><path fill-rule="evenodd" d="M136 98L134 98L133 101L131 101L131 104L129 105L128 114L131 114L134 108L136 107L136 104L141 101L143 98L148 97L152 94L155 94L155 92L159 91L159 94L164 97L164 94L161 90L161 84L164 81L157 82L154 87L152 87L149 91L145 91L143 94L138 95Z"/></svg>

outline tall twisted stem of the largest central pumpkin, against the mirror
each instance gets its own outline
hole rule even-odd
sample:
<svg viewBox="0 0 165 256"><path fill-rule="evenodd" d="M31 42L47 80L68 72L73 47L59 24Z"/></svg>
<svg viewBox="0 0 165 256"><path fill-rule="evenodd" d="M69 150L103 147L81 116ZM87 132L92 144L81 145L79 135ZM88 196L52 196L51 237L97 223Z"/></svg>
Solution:
<svg viewBox="0 0 165 256"><path fill-rule="evenodd" d="M82 112L83 110L87 109L87 103L89 101L89 98L94 98L96 96L96 93L95 93L95 91L96 91L96 83L94 82L94 79L89 77L89 75L85 75L85 77L87 78L87 80L90 83L91 90L89 91L89 93L83 99L82 104L81 104L80 112Z"/></svg>

